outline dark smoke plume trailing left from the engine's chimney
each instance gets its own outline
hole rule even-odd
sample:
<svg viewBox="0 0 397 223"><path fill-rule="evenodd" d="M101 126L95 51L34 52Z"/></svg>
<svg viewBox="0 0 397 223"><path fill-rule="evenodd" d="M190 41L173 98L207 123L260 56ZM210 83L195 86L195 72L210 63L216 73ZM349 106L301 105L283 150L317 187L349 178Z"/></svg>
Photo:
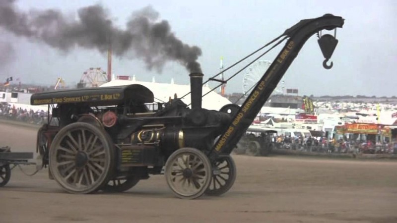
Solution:
<svg viewBox="0 0 397 223"><path fill-rule="evenodd" d="M0 27L19 37L43 42L63 52L75 47L142 59L148 69L161 70L167 61L178 61L189 72L201 72L197 61L201 50L179 40L167 20L151 6L132 13L126 29L112 24L107 10L99 5L77 10L72 19L56 9L21 11L15 0L0 0ZM1 53L0 53L1 54Z"/></svg>

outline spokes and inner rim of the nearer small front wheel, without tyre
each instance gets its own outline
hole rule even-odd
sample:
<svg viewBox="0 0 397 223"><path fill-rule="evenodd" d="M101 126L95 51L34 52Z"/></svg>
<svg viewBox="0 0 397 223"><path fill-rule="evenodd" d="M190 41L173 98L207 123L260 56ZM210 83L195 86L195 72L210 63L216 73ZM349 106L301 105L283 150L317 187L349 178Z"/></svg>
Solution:
<svg viewBox="0 0 397 223"><path fill-rule="evenodd" d="M192 171L192 176L184 176L186 169ZM169 186L180 195L189 197L198 194L207 185L207 175L210 169L205 166L204 161L194 153L179 154L172 160L167 169Z"/></svg>

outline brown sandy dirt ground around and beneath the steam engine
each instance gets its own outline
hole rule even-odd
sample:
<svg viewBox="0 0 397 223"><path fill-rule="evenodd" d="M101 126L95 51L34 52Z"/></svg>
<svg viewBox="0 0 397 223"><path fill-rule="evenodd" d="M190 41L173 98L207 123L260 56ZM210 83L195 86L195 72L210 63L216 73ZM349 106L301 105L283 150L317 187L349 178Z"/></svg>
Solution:
<svg viewBox="0 0 397 223"><path fill-rule="evenodd" d="M34 128L0 124L0 146L14 152L34 151L35 138ZM234 159L233 188L197 200L175 198L162 175L124 193L71 195L47 169L16 168L0 188L0 223L397 223L397 162Z"/></svg>

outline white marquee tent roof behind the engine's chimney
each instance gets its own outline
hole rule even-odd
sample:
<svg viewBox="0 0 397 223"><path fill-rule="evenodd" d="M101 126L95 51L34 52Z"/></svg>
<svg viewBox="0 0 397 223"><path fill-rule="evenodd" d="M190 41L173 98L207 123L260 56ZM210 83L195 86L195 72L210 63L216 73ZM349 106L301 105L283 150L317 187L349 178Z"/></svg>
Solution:
<svg viewBox="0 0 397 223"><path fill-rule="evenodd" d="M136 81L134 78L132 80L112 80L108 83L101 85L101 87L109 87L109 86L121 86L121 85L130 85L130 84L140 84L153 92L154 101L155 102L168 102L169 97L174 98L174 94L177 94L177 97L182 97L185 94L190 92L190 85L182 85L175 83L155 83L155 82L144 82L144 81ZM207 86L203 86L202 94L209 92L211 89ZM191 95L189 94L182 101L189 105L191 103ZM202 100L202 108L208 110L219 110L222 106L231 104L231 102L212 91L208 95L203 97Z"/></svg>

